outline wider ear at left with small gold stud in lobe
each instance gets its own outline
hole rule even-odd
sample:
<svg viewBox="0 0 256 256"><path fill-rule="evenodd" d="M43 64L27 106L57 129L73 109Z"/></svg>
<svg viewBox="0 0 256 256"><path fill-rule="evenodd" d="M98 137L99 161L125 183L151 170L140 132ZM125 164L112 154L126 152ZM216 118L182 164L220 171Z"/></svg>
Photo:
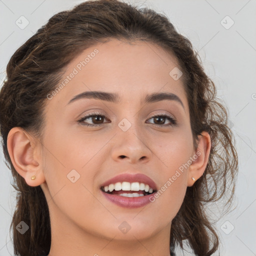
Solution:
<svg viewBox="0 0 256 256"><path fill-rule="evenodd" d="M45 181L42 170L39 144L21 127L13 127L7 136L7 149L15 170L29 186L38 186ZM35 179L31 179L31 176Z"/></svg>

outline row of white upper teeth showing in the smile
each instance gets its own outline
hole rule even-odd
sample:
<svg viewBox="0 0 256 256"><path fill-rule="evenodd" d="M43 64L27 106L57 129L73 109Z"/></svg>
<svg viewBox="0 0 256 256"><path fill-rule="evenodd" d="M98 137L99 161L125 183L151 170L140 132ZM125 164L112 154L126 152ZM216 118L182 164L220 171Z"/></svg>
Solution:
<svg viewBox="0 0 256 256"><path fill-rule="evenodd" d="M109 190L109 192L112 192L113 190L124 190L124 191L139 191L139 190L145 190L145 192L149 192L152 193L153 192L153 188L149 187L148 184L144 184L144 183L139 183L139 182L116 182L114 184L109 184L108 186L104 186L104 191L107 192Z"/></svg>

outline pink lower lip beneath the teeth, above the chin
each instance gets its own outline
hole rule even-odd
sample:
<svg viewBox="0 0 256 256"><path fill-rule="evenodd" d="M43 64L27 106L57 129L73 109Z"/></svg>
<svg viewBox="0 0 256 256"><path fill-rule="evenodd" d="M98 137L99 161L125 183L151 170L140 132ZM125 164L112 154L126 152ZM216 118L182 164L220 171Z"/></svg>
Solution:
<svg viewBox="0 0 256 256"><path fill-rule="evenodd" d="M125 207L125 208L138 208L143 207L149 202L149 198L153 197L155 192L144 195L144 196L136 196L136 197L126 197L116 194L108 194L100 190L103 195L111 202L115 203L118 206Z"/></svg>

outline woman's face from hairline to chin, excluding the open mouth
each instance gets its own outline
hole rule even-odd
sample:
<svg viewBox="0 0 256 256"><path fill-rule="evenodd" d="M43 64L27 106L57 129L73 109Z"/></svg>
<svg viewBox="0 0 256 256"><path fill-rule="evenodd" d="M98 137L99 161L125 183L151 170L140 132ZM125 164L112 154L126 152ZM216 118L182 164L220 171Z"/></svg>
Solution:
<svg viewBox="0 0 256 256"><path fill-rule="evenodd" d="M45 107L41 187L54 221L108 239L142 239L170 227L187 187L187 169L180 166L194 153L185 90L181 77L170 75L177 66L155 44L117 39L69 63ZM73 99L91 91L116 93L119 100ZM145 102L152 93L172 96ZM122 173L142 173L162 192L141 207L113 203L100 186ZM123 221L130 236L118 228Z"/></svg>

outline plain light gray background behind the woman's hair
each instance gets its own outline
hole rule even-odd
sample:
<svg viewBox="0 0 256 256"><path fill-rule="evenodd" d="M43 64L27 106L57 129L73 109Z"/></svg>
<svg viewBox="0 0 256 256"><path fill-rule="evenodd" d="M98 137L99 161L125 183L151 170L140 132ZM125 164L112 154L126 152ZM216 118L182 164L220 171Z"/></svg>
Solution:
<svg viewBox="0 0 256 256"><path fill-rule="evenodd" d="M4 79L6 64L14 51L54 13L79 2L82 0L0 0L0 81ZM218 97L225 101L239 155L239 174L236 208L215 224L222 242L220 255L256 255L256 1L127 2L152 7L170 18L199 52L205 72L217 86ZM232 20L234 24L230 26ZM15 22L19 22L19 26ZM20 27L25 22L29 22L28 25ZM13 255L8 230L15 207L15 191L10 185L12 178L2 152L0 174L0 256L5 256ZM221 208L218 205L221 206L215 204L208 208L213 219L218 219ZM178 251L177 255L191 254Z"/></svg>

